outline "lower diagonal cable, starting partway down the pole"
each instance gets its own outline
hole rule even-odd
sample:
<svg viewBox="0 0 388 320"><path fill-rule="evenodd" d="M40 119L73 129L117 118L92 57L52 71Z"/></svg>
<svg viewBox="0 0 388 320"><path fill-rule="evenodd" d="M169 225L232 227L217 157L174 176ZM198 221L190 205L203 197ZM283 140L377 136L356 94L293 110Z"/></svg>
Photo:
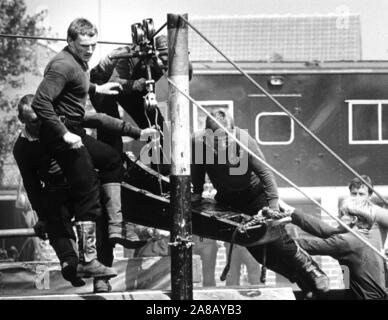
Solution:
<svg viewBox="0 0 388 320"><path fill-rule="evenodd" d="M307 199L309 199L311 202L313 202L315 205L317 205L323 212L328 214L331 218L333 218L335 221L337 221L342 227L344 227L347 231L352 233L357 239L359 239L362 243L367 245L370 249L372 249L375 253L377 253L381 258L383 258L385 261L388 261L388 258L385 257L378 249L376 249L373 245L371 245L365 238L360 236L357 232L350 229L345 223L343 223L340 219L338 219L335 215L331 214L328 210L326 210L324 207L321 206L321 204L311 198L307 193L305 193L301 188L299 188L295 183L293 183L290 179L288 179L285 175L280 173L278 170L273 168L269 163L267 163L265 160L261 159L259 156L257 156L254 152L252 152L247 146L245 146L237 137L234 136L225 126L222 125L216 118L214 118L203 106L201 106L197 101L195 101L192 97L190 97L188 94L186 94L183 90L181 90L170 78L167 79L168 82L173 85L183 96L185 96L189 101L191 101L197 108L202 110L208 117L210 117L222 130L225 131L225 133L231 137L242 149L244 149L246 152L248 152L252 157L254 157L256 160L260 161L260 163L264 164L268 169L270 169L273 173L275 173L277 176L279 176L281 179L286 181L289 185L291 185L293 188L298 190L302 195L304 195Z"/></svg>

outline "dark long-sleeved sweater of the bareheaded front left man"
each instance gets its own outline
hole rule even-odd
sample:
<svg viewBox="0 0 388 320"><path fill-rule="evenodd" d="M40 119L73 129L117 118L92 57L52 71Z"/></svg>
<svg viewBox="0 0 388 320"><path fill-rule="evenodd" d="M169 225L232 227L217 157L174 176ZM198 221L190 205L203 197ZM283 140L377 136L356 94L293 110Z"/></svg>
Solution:
<svg viewBox="0 0 388 320"><path fill-rule="evenodd" d="M87 95L92 91L95 86L90 85L87 64L65 47L48 63L32 108L52 138L59 139L68 131L59 116L82 120Z"/></svg>

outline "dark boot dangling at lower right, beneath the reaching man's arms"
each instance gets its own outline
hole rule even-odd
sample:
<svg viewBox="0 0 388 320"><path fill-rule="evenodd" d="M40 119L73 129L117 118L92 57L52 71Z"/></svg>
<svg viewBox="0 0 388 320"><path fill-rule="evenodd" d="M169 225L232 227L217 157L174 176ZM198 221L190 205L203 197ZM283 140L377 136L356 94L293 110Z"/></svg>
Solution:
<svg viewBox="0 0 388 320"><path fill-rule="evenodd" d="M294 256L295 281L307 295L329 291L329 278L311 256L298 246Z"/></svg>

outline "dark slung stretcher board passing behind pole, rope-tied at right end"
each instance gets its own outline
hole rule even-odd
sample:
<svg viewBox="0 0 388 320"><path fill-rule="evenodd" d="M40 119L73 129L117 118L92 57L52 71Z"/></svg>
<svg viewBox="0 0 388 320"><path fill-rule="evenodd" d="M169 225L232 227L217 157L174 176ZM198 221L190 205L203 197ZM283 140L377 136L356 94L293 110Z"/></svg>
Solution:
<svg viewBox="0 0 388 320"><path fill-rule="evenodd" d="M126 182L122 183L122 209L125 219L137 224L171 231L169 198L155 195ZM214 200L204 199L192 204L193 233L205 238L230 242L233 231L250 216L229 207L221 207ZM279 236L279 228L289 219L269 221L246 234L237 234L236 243L243 246L264 244Z"/></svg>

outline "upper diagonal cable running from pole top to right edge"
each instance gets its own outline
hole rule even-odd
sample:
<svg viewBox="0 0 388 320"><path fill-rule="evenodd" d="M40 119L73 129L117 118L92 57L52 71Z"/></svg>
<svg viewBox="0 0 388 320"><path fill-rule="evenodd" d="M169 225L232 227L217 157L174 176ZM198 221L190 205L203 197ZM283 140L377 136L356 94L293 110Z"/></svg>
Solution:
<svg viewBox="0 0 388 320"><path fill-rule="evenodd" d="M308 129L298 118L296 118L290 111L288 111L279 101L277 101L270 93L268 93L260 84L258 84L248 73L241 69L232 59L226 56L220 49L218 49L209 39L207 39L197 28L195 28L187 19L183 16L179 16L185 21L202 39L204 39L210 46L212 46L220 55L222 55L230 64L233 65L242 75L244 75L256 88L260 89L277 107L285 112L292 120L294 120L304 131L306 131L315 141L317 141L328 153L330 153L335 159L337 159L346 169L359 178L368 188L388 206L388 201L378 193L373 186L370 185L365 179L357 173L352 167L350 167L340 156L338 156L333 150L331 150L321 139L319 139L310 129Z"/></svg>

